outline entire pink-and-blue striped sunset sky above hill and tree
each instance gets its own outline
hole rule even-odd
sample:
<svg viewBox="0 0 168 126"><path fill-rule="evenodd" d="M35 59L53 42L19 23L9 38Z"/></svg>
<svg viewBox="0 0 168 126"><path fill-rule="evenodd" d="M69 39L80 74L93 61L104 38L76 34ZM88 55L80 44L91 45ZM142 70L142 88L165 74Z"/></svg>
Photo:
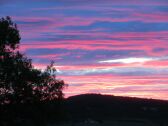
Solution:
<svg viewBox="0 0 168 126"><path fill-rule="evenodd" d="M55 61L65 97L168 100L167 0L0 0L5 16L36 68Z"/></svg>

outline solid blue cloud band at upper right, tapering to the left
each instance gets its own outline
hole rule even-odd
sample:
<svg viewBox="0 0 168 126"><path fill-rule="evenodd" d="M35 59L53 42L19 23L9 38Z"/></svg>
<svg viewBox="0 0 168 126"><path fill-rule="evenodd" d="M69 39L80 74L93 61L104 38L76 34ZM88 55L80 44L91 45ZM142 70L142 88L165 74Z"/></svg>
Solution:
<svg viewBox="0 0 168 126"><path fill-rule="evenodd" d="M130 22L107 22L97 21L88 26L64 26L63 30L92 30L97 29L102 32L150 32L168 31L168 23L143 23L139 21Z"/></svg>

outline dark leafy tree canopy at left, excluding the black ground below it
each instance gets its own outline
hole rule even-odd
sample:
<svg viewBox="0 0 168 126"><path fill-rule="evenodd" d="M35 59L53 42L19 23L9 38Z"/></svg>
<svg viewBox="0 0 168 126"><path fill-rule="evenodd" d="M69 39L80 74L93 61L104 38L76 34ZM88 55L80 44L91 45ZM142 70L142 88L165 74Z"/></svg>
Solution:
<svg viewBox="0 0 168 126"><path fill-rule="evenodd" d="M65 83L55 76L53 62L41 71L16 49L17 26L10 17L0 19L0 103L29 103L63 98Z"/></svg>

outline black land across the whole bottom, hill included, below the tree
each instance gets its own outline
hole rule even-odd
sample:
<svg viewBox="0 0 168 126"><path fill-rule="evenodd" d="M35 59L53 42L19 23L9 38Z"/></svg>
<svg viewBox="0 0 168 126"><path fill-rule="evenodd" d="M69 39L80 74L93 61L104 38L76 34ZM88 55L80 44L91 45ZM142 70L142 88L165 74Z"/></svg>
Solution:
<svg viewBox="0 0 168 126"><path fill-rule="evenodd" d="M99 94L1 107L0 126L168 126L168 101Z"/></svg>

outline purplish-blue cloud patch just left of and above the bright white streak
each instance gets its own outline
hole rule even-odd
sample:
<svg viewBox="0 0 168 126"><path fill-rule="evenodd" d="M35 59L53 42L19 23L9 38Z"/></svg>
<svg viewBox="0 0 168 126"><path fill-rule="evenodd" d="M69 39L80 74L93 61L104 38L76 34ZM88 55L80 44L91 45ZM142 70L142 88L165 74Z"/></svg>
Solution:
<svg viewBox="0 0 168 126"><path fill-rule="evenodd" d="M94 48L94 47L93 47ZM48 55L48 54L66 54L61 56L60 59L55 59L57 63L60 64L88 64L88 63L97 63L100 60L106 59L116 59L124 57L137 56L136 54L141 53L145 55L146 53L143 50L68 50L68 49L29 49L26 54L30 56L38 55ZM97 57L102 55L103 57ZM81 56L81 57L77 57ZM40 59L38 61L48 62L49 59ZM53 59L54 60L54 59Z"/></svg>

